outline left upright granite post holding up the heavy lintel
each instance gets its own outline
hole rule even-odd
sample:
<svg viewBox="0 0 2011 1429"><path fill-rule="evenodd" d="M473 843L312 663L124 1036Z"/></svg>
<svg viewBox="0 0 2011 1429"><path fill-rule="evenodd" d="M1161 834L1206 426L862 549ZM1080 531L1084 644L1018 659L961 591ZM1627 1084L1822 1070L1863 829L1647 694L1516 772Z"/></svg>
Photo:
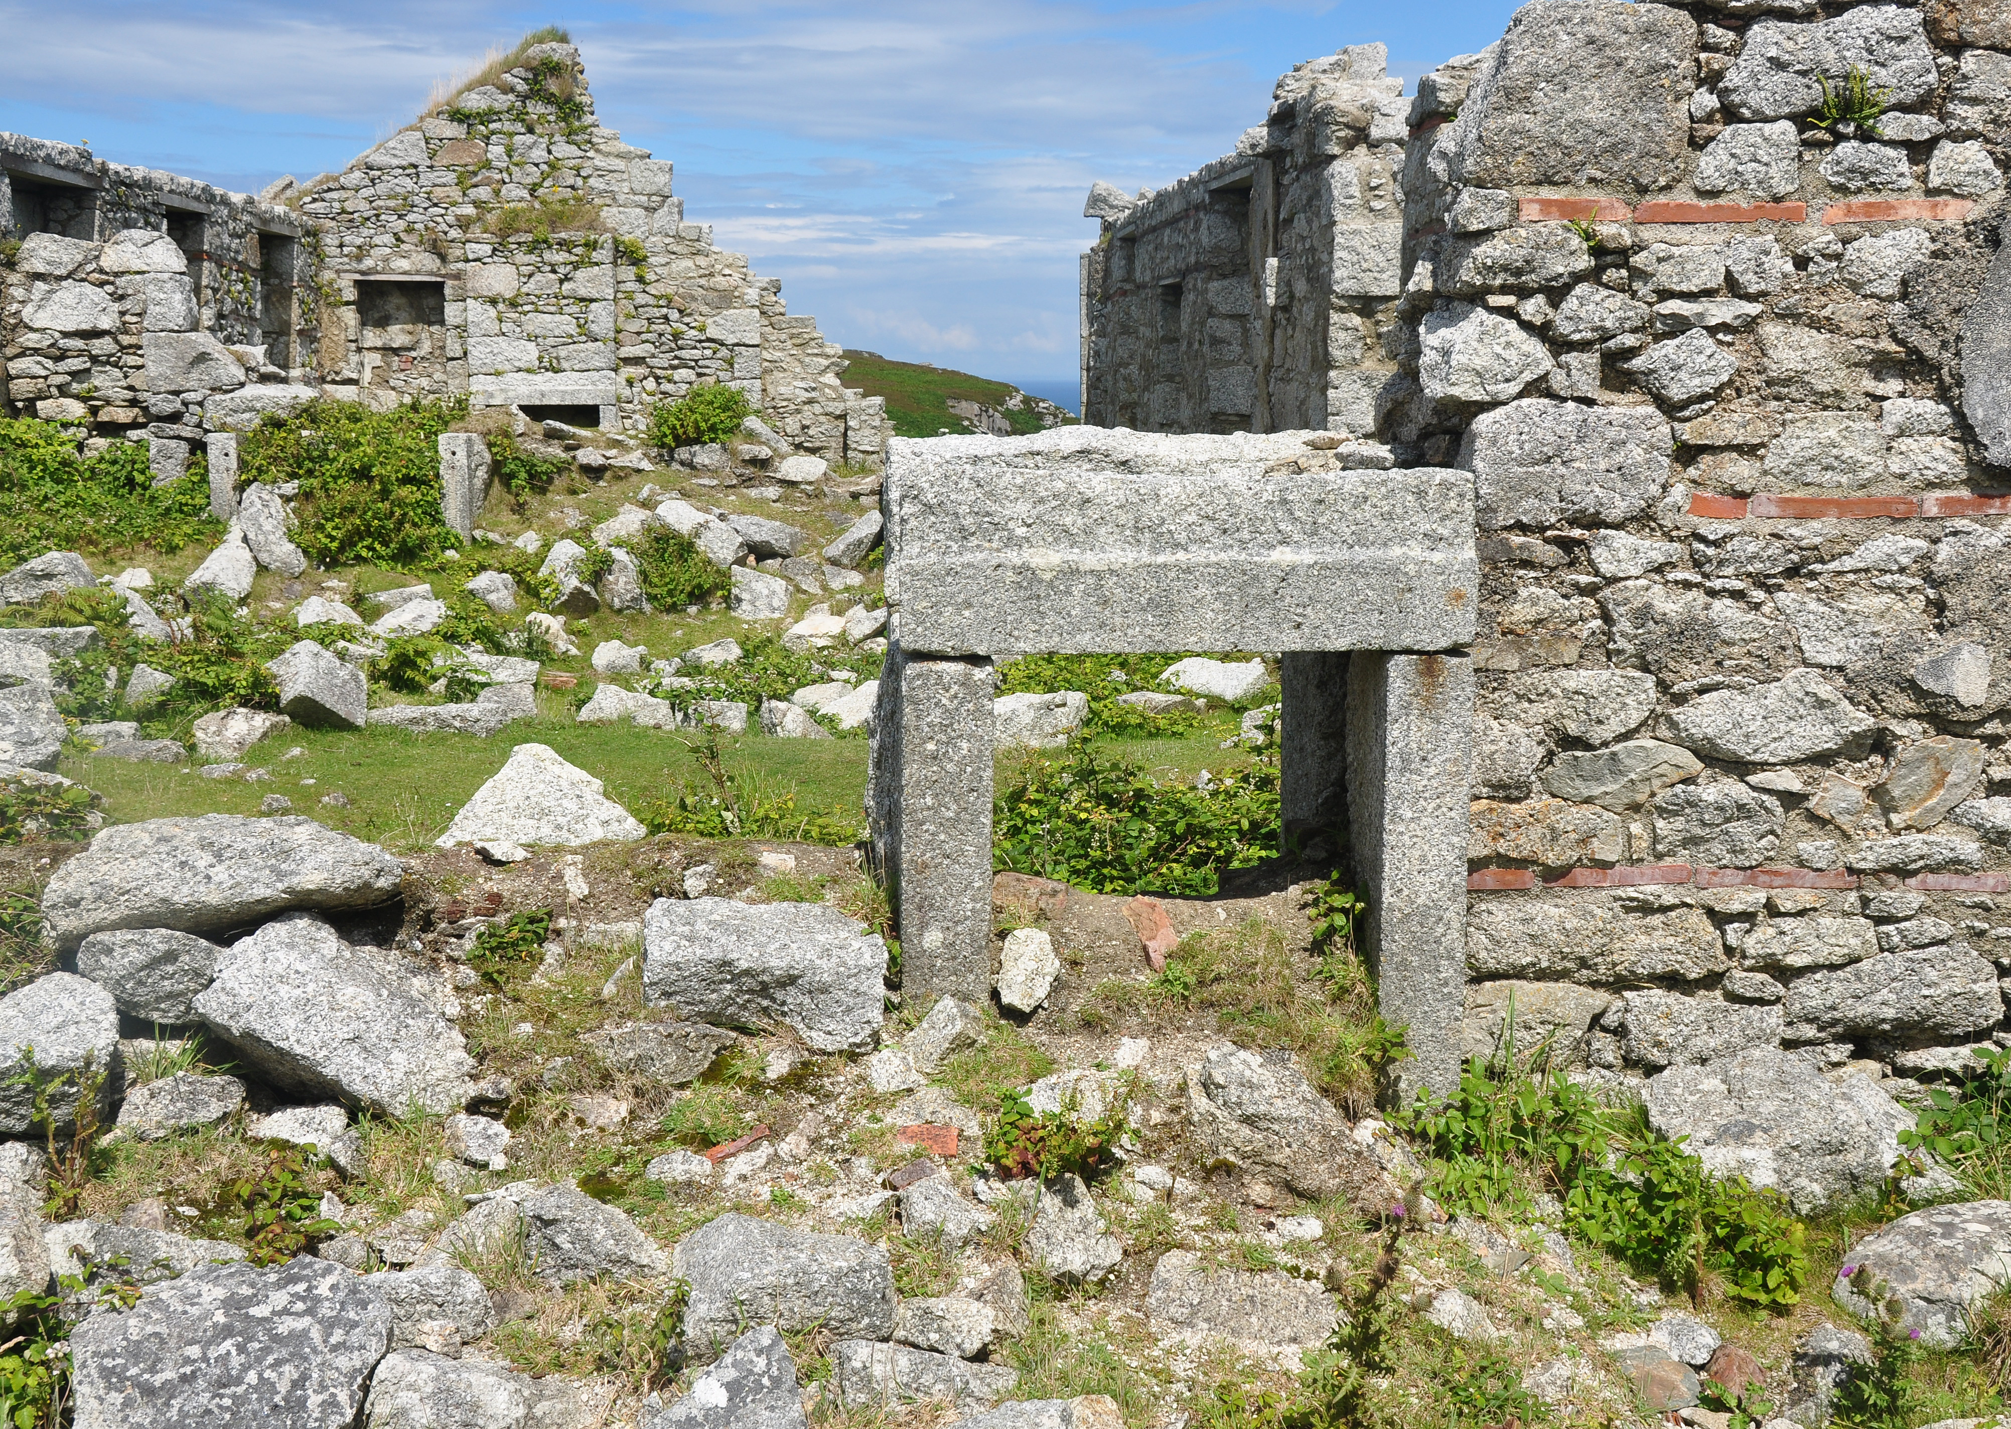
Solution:
<svg viewBox="0 0 2011 1429"><path fill-rule="evenodd" d="M901 939L901 993L991 997L991 661L895 643L873 720L873 864Z"/></svg>

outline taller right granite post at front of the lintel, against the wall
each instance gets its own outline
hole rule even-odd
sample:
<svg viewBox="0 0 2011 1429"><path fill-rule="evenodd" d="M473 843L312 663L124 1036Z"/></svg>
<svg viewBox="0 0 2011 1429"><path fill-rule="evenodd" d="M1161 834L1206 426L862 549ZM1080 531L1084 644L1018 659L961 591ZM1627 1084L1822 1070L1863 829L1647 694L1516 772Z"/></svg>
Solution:
<svg viewBox="0 0 2011 1429"><path fill-rule="evenodd" d="M1355 651L1347 663L1347 812L1367 892L1382 1015L1412 1057L1394 1093L1450 1093L1466 1007L1466 800L1474 667L1464 653Z"/></svg>

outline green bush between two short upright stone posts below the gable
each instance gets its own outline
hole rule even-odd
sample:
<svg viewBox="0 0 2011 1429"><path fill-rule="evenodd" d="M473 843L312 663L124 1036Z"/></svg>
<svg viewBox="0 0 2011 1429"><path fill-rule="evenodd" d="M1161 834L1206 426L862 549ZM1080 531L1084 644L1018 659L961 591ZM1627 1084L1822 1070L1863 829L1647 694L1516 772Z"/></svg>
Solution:
<svg viewBox="0 0 2011 1429"><path fill-rule="evenodd" d="M241 444L243 478L300 482L294 543L318 565L422 565L461 539L440 517L438 438L465 402L372 412L316 400L267 414Z"/></svg>

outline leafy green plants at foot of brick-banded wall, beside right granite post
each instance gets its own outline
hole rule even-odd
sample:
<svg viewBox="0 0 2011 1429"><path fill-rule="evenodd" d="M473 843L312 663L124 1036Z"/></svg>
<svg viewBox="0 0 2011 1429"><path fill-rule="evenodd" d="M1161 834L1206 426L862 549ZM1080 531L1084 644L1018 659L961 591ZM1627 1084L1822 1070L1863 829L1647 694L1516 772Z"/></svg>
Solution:
<svg viewBox="0 0 2011 1429"><path fill-rule="evenodd" d="M1512 1075L1510 1049L1472 1061L1460 1089L1400 1124L1432 1156L1434 1196L1466 1214L1532 1214L1534 1192L1565 1204L1573 1234L1701 1300L1705 1274L1733 1300L1786 1308L1808 1278L1806 1228L1780 1192L1717 1180L1647 1126L1635 1103L1599 1105L1561 1069Z"/></svg>

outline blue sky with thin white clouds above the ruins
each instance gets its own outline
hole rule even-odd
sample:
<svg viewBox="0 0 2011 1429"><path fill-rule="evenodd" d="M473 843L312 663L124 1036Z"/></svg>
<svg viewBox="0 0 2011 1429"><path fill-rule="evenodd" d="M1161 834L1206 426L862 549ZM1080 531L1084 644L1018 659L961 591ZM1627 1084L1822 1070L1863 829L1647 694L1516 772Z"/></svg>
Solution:
<svg viewBox="0 0 2011 1429"><path fill-rule="evenodd" d="M1044 390L1076 372L1094 179L1158 187L1261 123L1297 60L1394 74L1488 44L1438 4L621 4L0 0L0 129L255 191L340 169L539 24L603 125L676 163L686 217L827 338Z"/></svg>

